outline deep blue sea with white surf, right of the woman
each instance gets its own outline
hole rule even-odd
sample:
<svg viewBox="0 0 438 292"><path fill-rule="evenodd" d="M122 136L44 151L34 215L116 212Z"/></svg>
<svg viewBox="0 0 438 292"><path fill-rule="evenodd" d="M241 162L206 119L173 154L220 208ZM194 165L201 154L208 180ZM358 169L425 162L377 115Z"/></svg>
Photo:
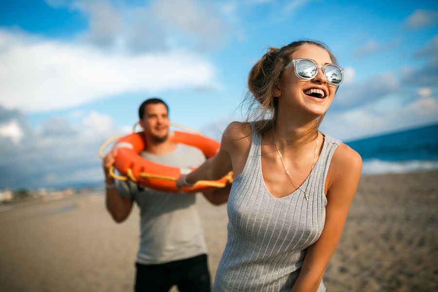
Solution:
<svg viewBox="0 0 438 292"><path fill-rule="evenodd" d="M345 142L364 162L363 174L438 169L438 124Z"/></svg>

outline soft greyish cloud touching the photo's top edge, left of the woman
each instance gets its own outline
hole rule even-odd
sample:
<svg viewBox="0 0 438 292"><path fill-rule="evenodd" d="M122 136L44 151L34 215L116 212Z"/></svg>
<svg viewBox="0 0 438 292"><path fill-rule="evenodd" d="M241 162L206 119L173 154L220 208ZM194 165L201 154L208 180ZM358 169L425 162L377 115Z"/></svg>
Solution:
<svg viewBox="0 0 438 292"><path fill-rule="evenodd" d="M216 49L235 32L236 4L202 0L48 0L49 5L76 10L89 29L80 37L103 48L134 53L185 47ZM238 30L237 30L238 33Z"/></svg>

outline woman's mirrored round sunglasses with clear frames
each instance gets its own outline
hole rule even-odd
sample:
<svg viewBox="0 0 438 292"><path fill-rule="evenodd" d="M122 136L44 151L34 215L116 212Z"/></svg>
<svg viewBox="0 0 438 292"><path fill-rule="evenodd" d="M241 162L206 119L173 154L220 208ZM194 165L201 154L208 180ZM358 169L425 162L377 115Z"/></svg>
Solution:
<svg viewBox="0 0 438 292"><path fill-rule="evenodd" d="M339 86L344 80L344 69L335 64L318 65L312 59L293 59L284 70L293 65L295 74L298 78L304 80L313 79L318 73L318 69L321 68L324 75L327 77L327 81L334 85Z"/></svg>

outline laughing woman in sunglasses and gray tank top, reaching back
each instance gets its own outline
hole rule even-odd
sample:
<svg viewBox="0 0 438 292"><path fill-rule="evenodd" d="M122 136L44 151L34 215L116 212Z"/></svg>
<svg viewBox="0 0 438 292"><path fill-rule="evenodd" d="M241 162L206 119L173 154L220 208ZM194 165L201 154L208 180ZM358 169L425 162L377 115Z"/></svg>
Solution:
<svg viewBox="0 0 438 292"><path fill-rule="evenodd" d="M219 153L178 180L182 187L234 171L213 291L326 290L362 169L357 152L318 131L342 82L336 64L317 41L271 48L248 80L260 116L271 118L231 123Z"/></svg>

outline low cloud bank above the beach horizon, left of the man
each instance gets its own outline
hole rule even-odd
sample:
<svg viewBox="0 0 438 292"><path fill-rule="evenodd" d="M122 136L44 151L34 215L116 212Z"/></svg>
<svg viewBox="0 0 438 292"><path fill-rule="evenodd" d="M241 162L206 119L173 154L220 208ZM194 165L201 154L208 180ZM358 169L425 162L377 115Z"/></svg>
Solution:
<svg viewBox="0 0 438 292"><path fill-rule="evenodd" d="M22 115L17 110L3 111L9 115L9 122L4 124ZM63 129L68 133L63 134ZM109 116L90 112L78 124L54 117L23 135L12 148L8 144L12 142L0 139L0 188L97 183L103 179L98 149L108 138L121 133Z"/></svg>

